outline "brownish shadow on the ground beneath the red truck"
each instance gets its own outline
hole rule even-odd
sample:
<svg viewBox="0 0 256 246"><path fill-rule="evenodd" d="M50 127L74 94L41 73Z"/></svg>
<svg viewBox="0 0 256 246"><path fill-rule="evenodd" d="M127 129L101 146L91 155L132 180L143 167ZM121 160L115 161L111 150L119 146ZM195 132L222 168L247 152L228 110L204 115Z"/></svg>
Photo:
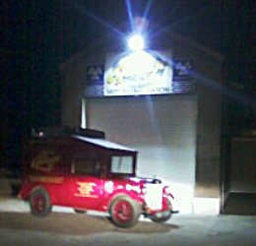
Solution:
<svg viewBox="0 0 256 246"><path fill-rule="evenodd" d="M166 233L178 229L179 226L139 221L132 228L123 229L114 226L102 216L52 213L39 218L30 214L0 213L0 228L85 236L105 232Z"/></svg>

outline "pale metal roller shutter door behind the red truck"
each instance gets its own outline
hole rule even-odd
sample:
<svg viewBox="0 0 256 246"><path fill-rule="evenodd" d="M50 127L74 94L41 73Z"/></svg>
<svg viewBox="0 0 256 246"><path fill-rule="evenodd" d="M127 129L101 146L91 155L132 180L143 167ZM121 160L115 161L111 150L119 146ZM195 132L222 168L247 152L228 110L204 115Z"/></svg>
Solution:
<svg viewBox="0 0 256 246"><path fill-rule="evenodd" d="M139 151L138 174L169 183L174 207L192 212L195 183L196 95L91 98L88 126L107 140Z"/></svg>

